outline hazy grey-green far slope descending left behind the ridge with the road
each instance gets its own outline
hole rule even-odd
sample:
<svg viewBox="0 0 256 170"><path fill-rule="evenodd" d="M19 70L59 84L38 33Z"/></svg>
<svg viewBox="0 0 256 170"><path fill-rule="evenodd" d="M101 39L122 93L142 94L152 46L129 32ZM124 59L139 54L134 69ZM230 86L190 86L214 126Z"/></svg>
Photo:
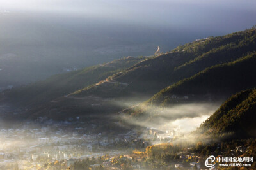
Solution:
<svg viewBox="0 0 256 170"><path fill-rule="evenodd" d="M86 67L79 71L58 74L47 80L38 81L31 85L18 87L2 94L3 102L9 102L18 106L34 106L49 102L56 97L74 92L88 85L97 83L108 76L131 67L145 57L124 57L98 66Z"/></svg>

